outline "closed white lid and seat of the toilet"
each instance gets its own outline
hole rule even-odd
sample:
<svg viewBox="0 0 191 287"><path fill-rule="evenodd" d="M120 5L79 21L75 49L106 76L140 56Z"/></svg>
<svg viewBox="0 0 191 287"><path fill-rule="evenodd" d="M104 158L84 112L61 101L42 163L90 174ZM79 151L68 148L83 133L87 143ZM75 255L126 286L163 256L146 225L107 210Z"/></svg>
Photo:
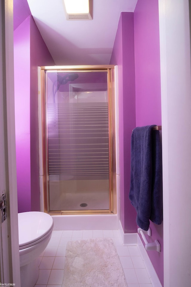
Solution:
<svg viewBox="0 0 191 287"><path fill-rule="evenodd" d="M36 244L53 228L52 217L44 212L18 213L19 249Z"/></svg>

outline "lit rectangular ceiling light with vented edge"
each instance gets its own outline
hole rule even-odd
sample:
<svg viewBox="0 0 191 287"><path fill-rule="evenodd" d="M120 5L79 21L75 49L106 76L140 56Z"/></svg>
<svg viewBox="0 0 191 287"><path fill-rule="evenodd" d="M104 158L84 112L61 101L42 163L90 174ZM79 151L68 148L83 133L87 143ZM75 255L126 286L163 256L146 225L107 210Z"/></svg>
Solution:
<svg viewBox="0 0 191 287"><path fill-rule="evenodd" d="M92 20L93 0L63 0L67 20Z"/></svg>

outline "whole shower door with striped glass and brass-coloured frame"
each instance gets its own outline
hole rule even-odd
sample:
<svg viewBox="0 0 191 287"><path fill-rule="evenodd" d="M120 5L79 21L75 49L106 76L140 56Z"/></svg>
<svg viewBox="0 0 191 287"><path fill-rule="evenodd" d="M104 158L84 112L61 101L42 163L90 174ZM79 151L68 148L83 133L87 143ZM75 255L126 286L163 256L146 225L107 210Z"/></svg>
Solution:
<svg viewBox="0 0 191 287"><path fill-rule="evenodd" d="M114 66L41 67L44 207L116 213Z"/></svg>

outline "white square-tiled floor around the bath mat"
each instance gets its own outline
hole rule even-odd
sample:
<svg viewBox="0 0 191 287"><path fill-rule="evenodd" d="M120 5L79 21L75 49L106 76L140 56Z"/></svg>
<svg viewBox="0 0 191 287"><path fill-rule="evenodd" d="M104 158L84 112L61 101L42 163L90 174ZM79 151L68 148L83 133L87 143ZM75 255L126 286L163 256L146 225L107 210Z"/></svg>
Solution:
<svg viewBox="0 0 191 287"><path fill-rule="evenodd" d="M113 239L128 287L153 287L137 246L122 245L118 230L53 231L47 248L38 257L39 277L35 286L61 287L64 276L67 242L70 240L100 237L110 237Z"/></svg>

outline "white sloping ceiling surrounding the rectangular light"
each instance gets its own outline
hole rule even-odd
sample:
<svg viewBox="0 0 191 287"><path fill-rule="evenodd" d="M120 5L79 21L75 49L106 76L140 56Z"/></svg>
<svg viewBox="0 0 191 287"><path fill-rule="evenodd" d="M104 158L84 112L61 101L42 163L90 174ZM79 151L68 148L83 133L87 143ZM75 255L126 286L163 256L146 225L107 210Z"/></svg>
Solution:
<svg viewBox="0 0 191 287"><path fill-rule="evenodd" d="M137 0L93 0L93 20L67 21L62 0L27 0L56 65L107 65L121 12Z"/></svg>

